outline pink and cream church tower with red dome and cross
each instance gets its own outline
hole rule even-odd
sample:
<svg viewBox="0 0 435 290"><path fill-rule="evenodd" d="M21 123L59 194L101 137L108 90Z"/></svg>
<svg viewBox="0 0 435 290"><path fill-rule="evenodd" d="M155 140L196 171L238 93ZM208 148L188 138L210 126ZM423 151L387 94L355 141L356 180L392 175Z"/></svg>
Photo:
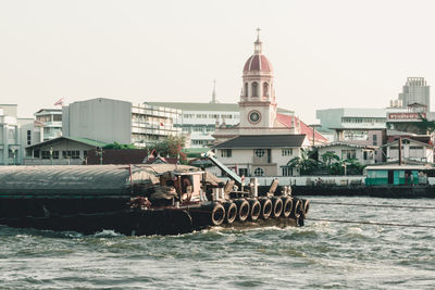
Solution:
<svg viewBox="0 0 435 290"><path fill-rule="evenodd" d="M276 118L275 90L271 62L262 54L260 28L253 54L244 67L244 85L240 96L240 129L272 128Z"/></svg>

